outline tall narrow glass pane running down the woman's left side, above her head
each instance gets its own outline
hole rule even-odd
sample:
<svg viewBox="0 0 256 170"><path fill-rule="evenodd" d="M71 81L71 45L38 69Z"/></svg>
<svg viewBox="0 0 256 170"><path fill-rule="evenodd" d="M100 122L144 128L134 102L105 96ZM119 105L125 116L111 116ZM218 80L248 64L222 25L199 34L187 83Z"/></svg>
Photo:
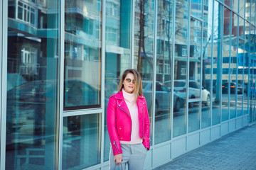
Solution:
<svg viewBox="0 0 256 170"><path fill-rule="evenodd" d="M107 0L106 6L104 161L107 161L110 155L107 103L110 96L117 93L122 73L131 67L132 1Z"/></svg>

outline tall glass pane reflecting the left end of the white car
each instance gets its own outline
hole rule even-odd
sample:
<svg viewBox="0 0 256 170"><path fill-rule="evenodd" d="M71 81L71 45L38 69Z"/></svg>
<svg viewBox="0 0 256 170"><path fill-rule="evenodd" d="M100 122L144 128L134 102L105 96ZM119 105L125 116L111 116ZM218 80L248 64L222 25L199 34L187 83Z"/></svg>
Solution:
<svg viewBox="0 0 256 170"><path fill-rule="evenodd" d="M188 1L176 1L174 91L186 103L188 60ZM174 115L173 137L186 133L186 107Z"/></svg>

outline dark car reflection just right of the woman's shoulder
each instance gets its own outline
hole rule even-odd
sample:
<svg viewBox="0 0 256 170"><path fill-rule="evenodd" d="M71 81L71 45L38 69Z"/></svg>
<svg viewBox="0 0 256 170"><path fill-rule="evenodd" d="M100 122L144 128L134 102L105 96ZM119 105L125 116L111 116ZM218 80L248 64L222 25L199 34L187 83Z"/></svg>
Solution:
<svg viewBox="0 0 256 170"><path fill-rule="evenodd" d="M143 93L149 100L152 93L152 81L143 81ZM156 81L156 113L158 111L168 111L170 108L171 90L160 81ZM174 111L179 111L183 106L183 99L174 93Z"/></svg>

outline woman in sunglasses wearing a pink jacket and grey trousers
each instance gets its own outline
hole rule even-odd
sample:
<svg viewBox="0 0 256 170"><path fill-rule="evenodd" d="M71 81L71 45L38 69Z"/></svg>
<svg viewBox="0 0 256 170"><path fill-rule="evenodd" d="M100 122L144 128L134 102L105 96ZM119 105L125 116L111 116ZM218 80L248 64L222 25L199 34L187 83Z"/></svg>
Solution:
<svg viewBox="0 0 256 170"><path fill-rule="evenodd" d="M119 91L107 106L107 129L110 135L110 169L144 169L149 150L150 123L142 79L135 69L122 74Z"/></svg>

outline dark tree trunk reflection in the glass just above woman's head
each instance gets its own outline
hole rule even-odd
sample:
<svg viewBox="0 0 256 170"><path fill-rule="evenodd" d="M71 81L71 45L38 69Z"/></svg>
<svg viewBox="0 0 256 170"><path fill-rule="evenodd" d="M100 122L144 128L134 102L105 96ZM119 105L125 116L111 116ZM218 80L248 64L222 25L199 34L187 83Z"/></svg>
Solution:
<svg viewBox="0 0 256 170"><path fill-rule="evenodd" d="M146 55L145 49L145 26L146 26L146 12L145 6L149 6L148 0L139 0L139 50L138 50L138 63L137 63L137 70L140 71L142 67L142 50L144 53L144 58L147 62L149 62L151 69L153 68L152 60L149 60L149 57ZM147 19L150 17L148 16ZM154 20L154 18L151 18Z"/></svg>

